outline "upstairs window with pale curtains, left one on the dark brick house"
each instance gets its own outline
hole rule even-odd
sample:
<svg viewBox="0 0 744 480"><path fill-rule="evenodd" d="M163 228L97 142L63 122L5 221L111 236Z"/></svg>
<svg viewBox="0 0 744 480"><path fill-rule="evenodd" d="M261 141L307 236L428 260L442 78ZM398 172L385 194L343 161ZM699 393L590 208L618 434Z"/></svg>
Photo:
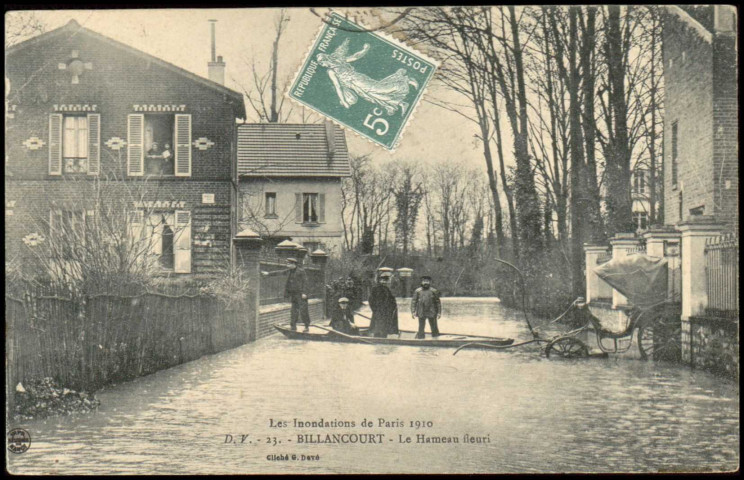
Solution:
<svg viewBox="0 0 744 480"><path fill-rule="evenodd" d="M49 115L49 175L98 175L101 164L101 115Z"/></svg>

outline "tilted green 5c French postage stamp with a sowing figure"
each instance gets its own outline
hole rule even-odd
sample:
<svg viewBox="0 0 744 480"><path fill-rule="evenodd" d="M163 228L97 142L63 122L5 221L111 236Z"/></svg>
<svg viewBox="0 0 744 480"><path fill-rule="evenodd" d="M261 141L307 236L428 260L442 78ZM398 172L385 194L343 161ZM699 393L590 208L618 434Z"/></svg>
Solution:
<svg viewBox="0 0 744 480"><path fill-rule="evenodd" d="M287 95L393 150L437 62L332 13Z"/></svg>

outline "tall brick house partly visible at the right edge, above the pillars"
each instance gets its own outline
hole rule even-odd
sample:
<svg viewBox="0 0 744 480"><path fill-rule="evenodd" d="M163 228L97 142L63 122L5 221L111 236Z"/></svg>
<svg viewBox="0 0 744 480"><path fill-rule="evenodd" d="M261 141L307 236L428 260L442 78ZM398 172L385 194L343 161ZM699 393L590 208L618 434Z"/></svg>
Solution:
<svg viewBox="0 0 744 480"><path fill-rule="evenodd" d="M664 19L664 218L738 224L737 19L733 6L669 7Z"/></svg>

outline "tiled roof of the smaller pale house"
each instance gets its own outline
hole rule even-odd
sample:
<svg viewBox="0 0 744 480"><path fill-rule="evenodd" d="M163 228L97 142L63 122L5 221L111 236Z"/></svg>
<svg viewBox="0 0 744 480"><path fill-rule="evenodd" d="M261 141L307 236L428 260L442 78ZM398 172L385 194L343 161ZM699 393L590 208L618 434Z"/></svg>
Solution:
<svg viewBox="0 0 744 480"><path fill-rule="evenodd" d="M333 153L327 129L333 138ZM348 177L349 151L336 125L254 123L238 126L238 175Z"/></svg>

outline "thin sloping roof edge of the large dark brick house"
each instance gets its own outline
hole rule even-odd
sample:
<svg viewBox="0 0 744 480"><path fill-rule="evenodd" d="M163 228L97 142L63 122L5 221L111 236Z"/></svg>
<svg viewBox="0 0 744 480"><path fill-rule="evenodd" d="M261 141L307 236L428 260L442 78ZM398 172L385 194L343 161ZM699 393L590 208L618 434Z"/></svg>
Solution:
<svg viewBox="0 0 744 480"><path fill-rule="evenodd" d="M5 55L10 56L15 54L16 52L19 52L26 47L29 47L31 45L36 45L41 42L45 42L47 40L51 40L53 38L56 38L63 34L69 34L70 37L74 35L87 35L91 38L94 38L96 40L102 41L104 43L107 43L113 47L122 49L130 54L136 55L138 57L144 58L145 60L148 60L152 63L155 63L157 65L160 65L161 67L166 68L167 70L170 70L172 72L175 72L179 75L182 75L190 80L193 80L197 83L200 83L206 87L209 87L213 90L216 90L219 93L222 93L224 95L229 96L232 100L237 102L236 104L236 117L237 118L246 118L245 114L245 102L243 100L243 94L236 92L235 90L231 90L224 85L221 85L217 82L214 82L212 80L209 80L207 78L201 77L199 75L196 75L194 73L189 72L188 70L185 70L181 67L178 67L176 65L173 65L172 63L166 62L165 60L155 57L153 55L150 55L149 53L145 53L142 50L138 50L134 47L130 47L129 45L125 43L121 43L117 40L114 40L113 38L109 38L105 35L101 35L100 33L94 32L93 30L87 29L83 26L81 26L79 23L77 23L74 19L67 22L65 25L55 28L54 30L50 30L49 32L42 33L41 35L37 35L35 37L29 38L27 40L24 40L22 42L19 42L5 50Z"/></svg>

